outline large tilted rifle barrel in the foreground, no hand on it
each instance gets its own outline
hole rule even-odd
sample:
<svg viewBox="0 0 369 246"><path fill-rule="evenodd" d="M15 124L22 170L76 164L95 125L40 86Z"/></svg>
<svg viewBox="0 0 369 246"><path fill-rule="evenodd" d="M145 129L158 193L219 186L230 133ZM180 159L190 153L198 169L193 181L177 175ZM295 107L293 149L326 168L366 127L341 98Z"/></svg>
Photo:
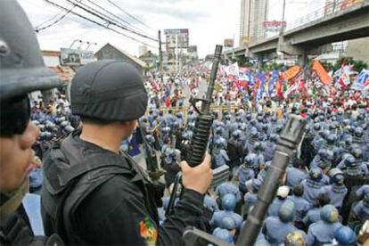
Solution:
<svg viewBox="0 0 369 246"><path fill-rule="evenodd" d="M258 201L248 216L246 224L243 226L235 245L254 245L256 242L266 211L275 198L275 193L279 184L281 184L281 179L283 178L283 174L290 162L293 152L301 142L305 126L306 120L296 115L291 115L287 121L280 139L278 140L272 164L258 191ZM183 237L185 245L208 245L209 243L221 246L229 245L194 227L187 228L184 231Z"/></svg>

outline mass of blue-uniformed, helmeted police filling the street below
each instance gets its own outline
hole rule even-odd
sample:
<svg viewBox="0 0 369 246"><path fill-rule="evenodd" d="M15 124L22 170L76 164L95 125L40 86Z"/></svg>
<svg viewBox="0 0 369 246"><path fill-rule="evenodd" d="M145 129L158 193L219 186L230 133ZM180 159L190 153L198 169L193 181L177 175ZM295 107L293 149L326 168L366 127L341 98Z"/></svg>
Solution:
<svg viewBox="0 0 369 246"><path fill-rule="evenodd" d="M365 108L357 112L302 110L307 119L307 133L300 151L291 160L285 174L285 184L277 192L267 212L258 245L279 245L284 242L305 242L321 245L355 245L356 234L368 219L369 185L356 186L355 200L348 201L345 178L364 179L368 172L368 113ZM212 138L212 167L228 165L232 170L229 181L217 186L204 200L204 206L214 215L210 225L213 234L226 242L234 242L242 228L244 218L257 201L258 188L273 159L278 137L289 113L299 109L286 109L283 118L263 109L251 111L214 112ZM150 111L142 120L145 133L156 126ZM354 117L354 115L357 115ZM150 152L160 146L161 167L167 171L167 186L174 182L180 171L180 150L185 151L195 125L195 112L159 116L160 138L146 135ZM352 187L350 187L351 190ZM342 204L345 200L345 204ZM165 199L163 209L168 205ZM343 208L345 207L345 208ZM342 212L345 211L345 214ZM164 214L162 212L162 214ZM344 222L343 226L341 223ZM303 244L289 244L303 245Z"/></svg>

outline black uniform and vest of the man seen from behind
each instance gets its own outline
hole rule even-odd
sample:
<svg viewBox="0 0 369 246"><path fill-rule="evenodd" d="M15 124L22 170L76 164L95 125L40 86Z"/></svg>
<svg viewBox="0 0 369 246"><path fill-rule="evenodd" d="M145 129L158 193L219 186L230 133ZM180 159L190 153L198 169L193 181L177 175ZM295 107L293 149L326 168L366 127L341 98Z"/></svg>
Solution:
<svg viewBox="0 0 369 246"><path fill-rule="evenodd" d="M201 193L184 190L159 225L152 183L133 160L87 143L73 132L45 154L45 234L70 244L183 244L187 225L201 227Z"/></svg>

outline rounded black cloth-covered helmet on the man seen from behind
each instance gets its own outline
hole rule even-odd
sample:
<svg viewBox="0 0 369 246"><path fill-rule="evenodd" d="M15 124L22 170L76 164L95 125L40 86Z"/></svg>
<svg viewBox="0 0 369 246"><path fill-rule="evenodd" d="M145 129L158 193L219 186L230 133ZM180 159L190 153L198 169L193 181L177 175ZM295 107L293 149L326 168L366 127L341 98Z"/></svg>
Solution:
<svg viewBox="0 0 369 246"><path fill-rule="evenodd" d="M73 114L107 121L143 116L147 94L143 78L126 61L94 61L80 68L70 86ZM134 102L134 103L133 103Z"/></svg>

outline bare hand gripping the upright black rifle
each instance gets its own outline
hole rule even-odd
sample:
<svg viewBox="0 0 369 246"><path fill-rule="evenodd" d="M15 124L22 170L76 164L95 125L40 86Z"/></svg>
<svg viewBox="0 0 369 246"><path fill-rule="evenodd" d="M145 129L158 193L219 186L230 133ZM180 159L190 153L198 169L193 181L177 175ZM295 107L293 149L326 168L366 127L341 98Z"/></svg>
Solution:
<svg viewBox="0 0 369 246"><path fill-rule="evenodd" d="M213 179L213 170L210 168L210 155L205 155L202 163L194 168L188 166L186 161L181 162L182 183L184 188L204 194L208 191L211 180Z"/></svg>

